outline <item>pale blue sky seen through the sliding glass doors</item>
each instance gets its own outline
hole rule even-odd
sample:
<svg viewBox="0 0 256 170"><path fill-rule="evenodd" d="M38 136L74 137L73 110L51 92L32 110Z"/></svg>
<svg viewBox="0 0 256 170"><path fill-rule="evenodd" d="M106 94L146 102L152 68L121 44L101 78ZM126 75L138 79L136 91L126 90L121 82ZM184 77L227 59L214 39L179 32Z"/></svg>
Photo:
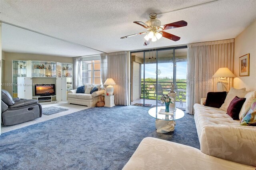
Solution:
<svg viewBox="0 0 256 170"><path fill-rule="evenodd" d="M158 69L161 74L158 77L173 77L173 64L172 63L158 63ZM156 78L156 63L146 64L145 67L145 78ZM143 65L142 75L143 78ZM186 79L187 77L187 62L177 62L176 65L176 79Z"/></svg>

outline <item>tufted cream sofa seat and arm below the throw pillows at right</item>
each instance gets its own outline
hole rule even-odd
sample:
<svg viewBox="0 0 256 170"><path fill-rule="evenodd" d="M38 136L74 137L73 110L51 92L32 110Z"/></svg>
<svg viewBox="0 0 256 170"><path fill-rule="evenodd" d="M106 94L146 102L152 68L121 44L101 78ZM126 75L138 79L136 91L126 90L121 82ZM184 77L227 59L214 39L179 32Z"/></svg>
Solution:
<svg viewBox="0 0 256 170"><path fill-rule="evenodd" d="M218 108L195 104L194 112L201 152L256 166L256 127L240 126Z"/></svg>

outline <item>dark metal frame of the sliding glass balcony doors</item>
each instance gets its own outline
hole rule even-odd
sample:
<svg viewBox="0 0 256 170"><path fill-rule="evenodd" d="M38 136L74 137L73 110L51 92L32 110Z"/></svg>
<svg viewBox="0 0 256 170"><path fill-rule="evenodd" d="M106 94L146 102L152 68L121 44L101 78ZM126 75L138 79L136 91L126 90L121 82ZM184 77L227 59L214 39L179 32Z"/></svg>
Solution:
<svg viewBox="0 0 256 170"><path fill-rule="evenodd" d="M165 48L156 48L156 49L145 49L145 50L139 50L139 51L130 51L130 67L132 67L132 53L139 53L143 52L143 106L145 106L145 53L150 52L150 51L156 51L156 70L158 69L158 51L163 51L163 50L173 50L173 83L176 85L176 60L175 60L175 49L184 49L188 48L187 45L182 45L182 46L177 46L177 47L165 47ZM140 67L141 68L141 67ZM141 74L140 74L141 75ZM130 79L132 79L132 69L130 68ZM140 84L141 84L141 76L140 76ZM158 74L156 74L156 84L158 83ZM130 83L130 89L132 86L132 82ZM156 86L156 91L158 91L158 86ZM140 91L141 93L141 91ZM132 91L130 90L130 104L131 104L131 95ZM140 94L141 96L141 94ZM158 97L156 96L156 106L158 105Z"/></svg>

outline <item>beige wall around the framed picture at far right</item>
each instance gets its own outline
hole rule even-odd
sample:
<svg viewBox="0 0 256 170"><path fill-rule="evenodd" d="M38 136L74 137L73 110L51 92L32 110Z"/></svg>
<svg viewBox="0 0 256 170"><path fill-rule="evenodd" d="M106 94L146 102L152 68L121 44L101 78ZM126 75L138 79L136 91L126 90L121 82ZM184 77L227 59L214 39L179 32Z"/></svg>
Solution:
<svg viewBox="0 0 256 170"><path fill-rule="evenodd" d="M256 20L235 38L234 49L234 88L256 90ZM238 59L247 53L250 53L250 76L240 77Z"/></svg>

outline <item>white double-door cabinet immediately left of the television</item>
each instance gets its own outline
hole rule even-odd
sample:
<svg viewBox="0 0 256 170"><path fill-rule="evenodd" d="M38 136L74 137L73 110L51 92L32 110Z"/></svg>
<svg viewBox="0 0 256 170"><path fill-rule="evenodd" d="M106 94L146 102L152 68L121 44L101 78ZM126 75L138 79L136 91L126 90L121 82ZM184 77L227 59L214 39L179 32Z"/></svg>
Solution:
<svg viewBox="0 0 256 170"><path fill-rule="evenodd" d="M18 98L32 99L32 77L17 77Z"/></svg>

